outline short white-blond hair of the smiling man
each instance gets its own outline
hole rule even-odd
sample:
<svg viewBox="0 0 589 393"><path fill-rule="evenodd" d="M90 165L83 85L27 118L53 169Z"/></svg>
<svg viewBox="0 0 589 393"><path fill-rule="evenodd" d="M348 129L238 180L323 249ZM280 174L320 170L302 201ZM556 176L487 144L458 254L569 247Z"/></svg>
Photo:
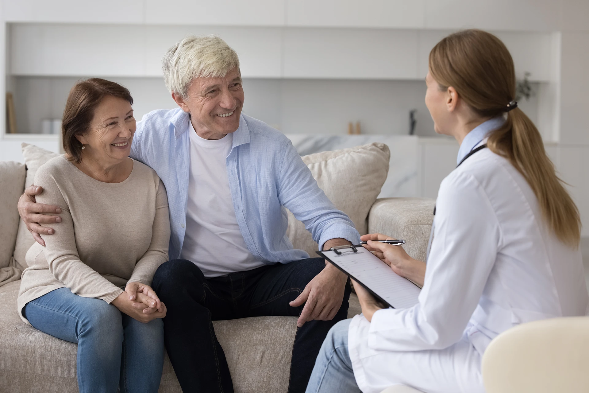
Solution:
<svg viewBox="0 0 589 393"><path fill-rule="evenodd" d="M223 78L239 68L237 53L216 35L188 35L168 49L162 63L166 87L184 100L195 78Z"/></svg>

